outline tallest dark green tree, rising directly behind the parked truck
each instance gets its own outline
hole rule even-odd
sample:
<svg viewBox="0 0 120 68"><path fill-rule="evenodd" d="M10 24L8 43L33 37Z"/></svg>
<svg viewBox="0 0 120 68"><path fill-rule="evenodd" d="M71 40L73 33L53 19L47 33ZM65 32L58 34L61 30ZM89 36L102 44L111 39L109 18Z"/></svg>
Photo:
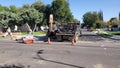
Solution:
<svg viewBox="0 0 120 68"><path fill-rule="evenodd" d="M74 20L67 0L53 0L52 13L54 15L54 20L61 22L61 24Z"/></svg>

